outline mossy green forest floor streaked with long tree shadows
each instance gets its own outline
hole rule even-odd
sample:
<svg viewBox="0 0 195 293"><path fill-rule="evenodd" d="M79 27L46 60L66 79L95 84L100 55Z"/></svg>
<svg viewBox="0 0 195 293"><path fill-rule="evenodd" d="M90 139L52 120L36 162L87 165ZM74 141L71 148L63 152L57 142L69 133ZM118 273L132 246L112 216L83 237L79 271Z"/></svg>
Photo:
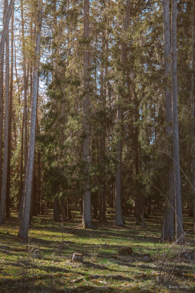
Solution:
<svg viewBox="0 0 195 293"><path fill-rule="evenodd" d="M62 224L49 210L33 218L27 241L17 236L16 216L12 211L0 226L0 293L195 293L193 218L187 210L187 246L160 242L162 211L153 211L146 228L135 225L131 212L121 228L109 209L107 223L94 220L97 229L91 230L79 227L79 213ZM71 262L73 252L83 253L82 263Z"/></svg>

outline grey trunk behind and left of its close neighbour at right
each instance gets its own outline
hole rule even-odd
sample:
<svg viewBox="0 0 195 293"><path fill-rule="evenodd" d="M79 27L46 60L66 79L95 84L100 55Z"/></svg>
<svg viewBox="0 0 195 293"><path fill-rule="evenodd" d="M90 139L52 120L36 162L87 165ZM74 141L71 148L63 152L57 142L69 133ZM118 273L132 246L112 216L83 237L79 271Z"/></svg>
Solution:
<svg viewBox="0 0 195 293"><path fill-rule="evenodd" d="M167 139L171 144L171 122L172 122L172 102L171 102L171 85L170 85L170 60L171 60L171 43L170 43L170 16L169 16L169 0L163 0L163 33L164 33L164 66L165 66L165 95L166 95L166 132ZM172 153L172 147L169 147L169 153ZM174 177L173 162L170 161L170 167L167 171L167 197L172 206L174 206ZM161 235L163 240L172 240L174 238L174 211L170 204L166 201L163 232Z"/></svg>

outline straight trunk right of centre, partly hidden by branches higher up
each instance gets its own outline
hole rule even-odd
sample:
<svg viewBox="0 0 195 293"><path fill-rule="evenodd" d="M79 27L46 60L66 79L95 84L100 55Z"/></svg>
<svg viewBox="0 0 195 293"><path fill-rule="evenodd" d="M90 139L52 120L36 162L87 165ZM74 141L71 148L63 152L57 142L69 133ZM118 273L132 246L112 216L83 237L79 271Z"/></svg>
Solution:
<svg viewBox="0 0 195 293"><path fill-rule="evenodd" d="M124 24L123 30L126 31L129 27L129 18L130 18L130 7L131 1L126 0L126 12L124 16ZM125 56L126 56L126 44L122 42L121 48L121 64L122 64L122 72L121 72L121 80L119 81L119 90L123 88L122 77L124 75L124 64L125 64ZM115 190L115 225L121 226L124 224L123 214L122 214L122 192L121 192L121 172L122 172L122 141L121 141L121 124L122 124L122 97L118 95L117 97L117 117L116 124L118 127L118 142L117 142L117 171L116 171L116 190Z"/></svg>

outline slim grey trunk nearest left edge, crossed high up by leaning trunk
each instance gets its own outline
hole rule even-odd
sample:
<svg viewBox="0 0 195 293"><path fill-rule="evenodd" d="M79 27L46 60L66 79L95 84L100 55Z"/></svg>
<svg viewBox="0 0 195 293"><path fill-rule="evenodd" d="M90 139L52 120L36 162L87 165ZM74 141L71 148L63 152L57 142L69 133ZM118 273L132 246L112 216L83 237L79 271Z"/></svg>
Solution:
<svg viewBox="0 0 195 293"><path fill-rule="evenodd" d="M6 11L8 11L8 1L7 0L5 1L5 9L6 9ZM6 76L5 76L5 123L4 123L3 174L2 174L2 192L1 192L1 206L0 206L0 224L3 224L4 219L5 219L6 191L7 191L8 133L9 133L9 86L10 86L9 26L7 26L5 44L6 44L6 50L5 50L5 70L6 70Z"/></svg>

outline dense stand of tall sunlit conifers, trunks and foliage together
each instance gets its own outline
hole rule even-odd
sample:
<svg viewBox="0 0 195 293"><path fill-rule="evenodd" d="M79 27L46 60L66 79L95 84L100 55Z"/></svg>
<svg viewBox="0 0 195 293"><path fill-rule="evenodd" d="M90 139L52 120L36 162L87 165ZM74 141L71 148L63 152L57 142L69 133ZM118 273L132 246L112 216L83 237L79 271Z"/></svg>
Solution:
<svg viewBox="0 0 195 293"><path fill-rule="evenodd" d="M0 224L46 207L115 225L195 222L193 0L0 3ZM175 224L174 224L175 218Z"/></svg>

